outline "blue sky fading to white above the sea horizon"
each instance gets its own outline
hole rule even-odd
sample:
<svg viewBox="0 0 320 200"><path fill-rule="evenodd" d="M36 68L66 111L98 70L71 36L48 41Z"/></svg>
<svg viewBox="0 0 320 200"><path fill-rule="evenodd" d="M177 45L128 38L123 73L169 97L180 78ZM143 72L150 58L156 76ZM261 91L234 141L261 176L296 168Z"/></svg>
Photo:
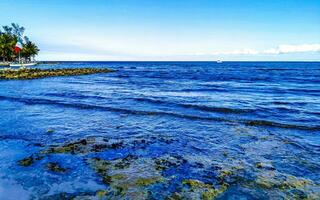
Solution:
<svg viewBox="0 0 320 200"><path fill-rule="evenodd" d="M38 60L320 61L320 0L0 0Z"/></svg>

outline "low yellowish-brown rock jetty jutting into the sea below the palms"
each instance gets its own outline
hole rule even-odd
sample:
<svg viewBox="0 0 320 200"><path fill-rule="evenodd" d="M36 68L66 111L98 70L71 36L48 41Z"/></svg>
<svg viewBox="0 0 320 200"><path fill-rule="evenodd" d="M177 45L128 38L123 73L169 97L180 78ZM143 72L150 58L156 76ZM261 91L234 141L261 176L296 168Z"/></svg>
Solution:
<svg viewBox="0 0 320 200"><path fill-rule="evenodd" d="M0 80L28 80L56 76L79 76L98 73L109 73L115 70L107 68L62 68L62 69L39 69L39 68L5 68L0 70Z"/></svg>

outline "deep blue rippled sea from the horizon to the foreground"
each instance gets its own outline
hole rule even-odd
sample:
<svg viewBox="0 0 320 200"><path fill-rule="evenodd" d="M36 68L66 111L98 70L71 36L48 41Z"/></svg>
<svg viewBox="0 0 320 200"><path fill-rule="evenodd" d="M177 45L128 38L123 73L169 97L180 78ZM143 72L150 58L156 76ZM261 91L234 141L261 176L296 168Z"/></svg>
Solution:
<svg viewBox="0 0 320 200"><path fill-rule="evenodd" d="M39 67L118 71L0 81L0 199L320 198L320 63Z"/></svg>

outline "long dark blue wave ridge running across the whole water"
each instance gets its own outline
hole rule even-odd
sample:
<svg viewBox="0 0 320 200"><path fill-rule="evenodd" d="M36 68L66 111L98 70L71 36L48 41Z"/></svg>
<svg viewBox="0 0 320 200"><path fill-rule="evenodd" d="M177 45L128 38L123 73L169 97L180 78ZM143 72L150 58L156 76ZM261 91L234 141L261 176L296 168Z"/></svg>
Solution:
<svg viewBox="0 0 320 200"><path fill-rule="evenodd" d="M217 122L229 122L229 123L242 123L247 126L268 126L268 127L277 127L277 128L285 128L285 129L299 129L299 130L310 130L310 131L319 131L320 126L305 126L305 125L293 125L293 124L284 124L267 120L234 120L227 119L223 117L206 117L206 116L197 116L197 115L186 115L175 112L167 112L167 111L143 111L143 110L129 110L126 108L115 108L115 107L107 107L100 105L92 105L92 104L84 104L84 103L66 103L61 101L49 100L49 99L35 99L35 98L19 98L19 97L7 97L0 96L0 100L7 101L15 101L24 104L36 105L36 104L44 104L44 105L52 105L52 106L63 106L63 107L71 107L77 109L95 109L95 110L103 110L103 111L111 111L111 112L120 112L125 114L132 115L154 115L154 116L171 116L183 119L191 119L191 120L206 120L206 121L217 121Z"/></svg>

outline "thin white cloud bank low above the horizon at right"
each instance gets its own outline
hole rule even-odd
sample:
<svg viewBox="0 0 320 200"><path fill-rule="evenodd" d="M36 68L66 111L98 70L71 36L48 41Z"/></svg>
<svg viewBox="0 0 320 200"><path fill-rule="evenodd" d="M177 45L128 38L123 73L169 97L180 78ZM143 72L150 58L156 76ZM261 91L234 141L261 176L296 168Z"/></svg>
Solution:
<svg viewBox="0 0 320 200"><path fill-rule="evenodd" d="M217 51L210 55L277 55L290 53L320 53L320 44L301 44L301 45L279 45L277 48L267 50L242 49L234 51ZM204 53L196 53L194 55L206 55ZM208 55L208 54L207 54Z"/></svg>

